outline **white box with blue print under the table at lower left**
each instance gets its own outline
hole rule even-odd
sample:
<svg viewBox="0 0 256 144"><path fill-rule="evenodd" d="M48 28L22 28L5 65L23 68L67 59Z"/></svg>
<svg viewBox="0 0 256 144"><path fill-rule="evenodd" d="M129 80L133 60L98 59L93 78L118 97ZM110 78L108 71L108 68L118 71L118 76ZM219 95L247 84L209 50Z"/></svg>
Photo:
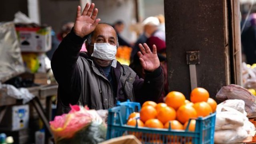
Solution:
<svg viewBox="0 0 256 144"><path fill-rule="evenodd" d="M0 123L0 130L22 130L28 128L29 106L28 104L12 106L6 110L6 113Z"/></svg>

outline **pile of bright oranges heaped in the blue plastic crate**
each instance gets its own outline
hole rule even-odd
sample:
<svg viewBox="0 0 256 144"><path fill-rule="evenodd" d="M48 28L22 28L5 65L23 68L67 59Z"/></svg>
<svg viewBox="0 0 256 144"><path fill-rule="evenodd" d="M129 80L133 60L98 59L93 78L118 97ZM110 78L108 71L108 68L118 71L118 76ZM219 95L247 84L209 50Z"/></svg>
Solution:
<svg viewBox="0 0 256 144"><path fill-rule="evenodd" d="M190 101L181 92L169 92L165 103L145 102L140 112L130 114L127 125L185 130L190 118L208 116L216 110L217 103L204 88L192 90ZM196 120L191 120L188 130L194 131L195 126Z"/></svg>

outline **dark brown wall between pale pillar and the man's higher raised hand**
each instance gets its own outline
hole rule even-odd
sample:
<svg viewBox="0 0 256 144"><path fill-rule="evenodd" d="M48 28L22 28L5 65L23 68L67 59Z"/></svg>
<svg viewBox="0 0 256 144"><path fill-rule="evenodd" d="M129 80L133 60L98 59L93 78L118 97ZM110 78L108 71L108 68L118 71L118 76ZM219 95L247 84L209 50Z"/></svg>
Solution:
<svg viewBox="0 0 256 144"><path fill-rule="evenodd" d="M41 23L59 32L65 22L74 22L79 0L40 0Z"/></svg>

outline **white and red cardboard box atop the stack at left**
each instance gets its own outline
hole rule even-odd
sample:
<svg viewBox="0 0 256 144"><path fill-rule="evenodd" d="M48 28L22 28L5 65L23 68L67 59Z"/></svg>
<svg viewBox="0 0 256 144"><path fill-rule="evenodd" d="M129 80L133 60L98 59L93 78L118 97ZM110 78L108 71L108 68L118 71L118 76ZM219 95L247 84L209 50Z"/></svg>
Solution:
<svg viewBox="0 0 256 144"><path fill-rule="evenodd" d="M22 52L47 52L52 46L52 28L16 27Z"/></svg>

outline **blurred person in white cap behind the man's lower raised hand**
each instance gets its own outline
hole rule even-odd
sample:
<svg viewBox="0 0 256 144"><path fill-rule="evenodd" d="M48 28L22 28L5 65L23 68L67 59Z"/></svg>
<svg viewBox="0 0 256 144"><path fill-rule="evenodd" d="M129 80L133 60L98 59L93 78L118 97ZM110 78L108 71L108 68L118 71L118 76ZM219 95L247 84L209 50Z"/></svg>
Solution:
<svg viewBox="0 0 256 144"><path fill-rule="evenodd" d="M143 31L143 34L140 35L140 37L134 44L134 47L132 48L132 53L130 58L131 63L134 61L134 56L136 56L137 52L139 51L138 44L146 43L148 38L158 30L159 24L160 22L158 18L154 16L150 16L142 22L144 31Z"/></svg>

